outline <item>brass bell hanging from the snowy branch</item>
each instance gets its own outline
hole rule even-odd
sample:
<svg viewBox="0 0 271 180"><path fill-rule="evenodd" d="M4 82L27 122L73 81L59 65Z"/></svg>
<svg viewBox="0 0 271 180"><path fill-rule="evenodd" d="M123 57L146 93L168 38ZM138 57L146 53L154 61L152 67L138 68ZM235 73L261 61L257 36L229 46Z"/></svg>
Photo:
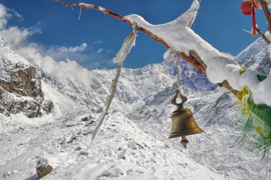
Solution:
<svg viewBox="0 0 271 180"><path fill-rule="evenodd" d="M176 103L178 94L179 90L176 90L175 96L171 100L171 103L177 106L177 110L174 111L171 116L172 127L169 139L182 137L182 141L180 141L180 143L184 146L184 148L187 148L187 143L189 141L186 139L186 136L204 131L196 124L193 118L193 113L189 109L184 108L183 105L187 101L187 98L180 95L182 102Z"/></svg>

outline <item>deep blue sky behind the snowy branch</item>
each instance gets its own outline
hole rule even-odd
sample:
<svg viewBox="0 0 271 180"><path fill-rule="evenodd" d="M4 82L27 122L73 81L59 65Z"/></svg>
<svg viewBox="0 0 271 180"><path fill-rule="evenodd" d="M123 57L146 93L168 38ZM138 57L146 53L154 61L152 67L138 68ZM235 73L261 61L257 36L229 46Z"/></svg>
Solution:
<svg viewBox="0 0 271 180"><path fill-rule="evenodd" d="M106 7L121 15L139 14L151 24L167 23L176 19L191 5L192 0L69 0L69 2L93 3ZM236 56L256 38L242 29L251 29L251 17L239 10L242 1L202 0L201 8L192 29L204 40L223 52ZM27 43L39 44L43 53L48 53L57 61L69 58L88 69L114 68L112 59L122 45L124 38L132 31L130 25L104 15L96 10L82 9L78 21L79 8L44 0L0 0L6 8L22 15L8 18L7 28L39 29L27 37ZM257 24L262 31L267 30L262 10L257 10ZM12 13L12 12L10 12ZM124 61L127 68L139 68L149 63L159 63L167 50L164 45L138 33L136 46ZM26 42L24 42L26 43ZM87 45L87 47L85 47ZM82 48L69 53L58 53L62 48ZM64 51L63 51L64 52Z"/></svg>

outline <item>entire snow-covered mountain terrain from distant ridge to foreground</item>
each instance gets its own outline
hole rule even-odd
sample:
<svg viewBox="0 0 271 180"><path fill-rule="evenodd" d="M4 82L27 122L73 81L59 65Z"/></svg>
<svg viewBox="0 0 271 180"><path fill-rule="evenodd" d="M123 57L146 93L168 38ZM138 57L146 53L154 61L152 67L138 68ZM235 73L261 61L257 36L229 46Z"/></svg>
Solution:
<svg viewBox="0 0 271 180"><path fill-rule="evenodd" d="M7 44L0 47L0 52L12 54L2 55L5 66L21 63L19 69L32 67ZM235 60L268 73L268 66L263 65L270 65L267 45L260 39ZM40 82L37 84L43 98L53 103L52 112L35 118L27 117L25 111L0 114L0 179L38 179L35 165L41 157L53 167L43 179L265 178L265 159L236 145L240 135L236 128L237 99L224 88L195 92L184 87L188 97L185 106L195 113L196 122L205 132L188 136L187 149L180 145L179 138L168 139L170 116L175 110L170 100L177 86L172 69L164 63L122 70L111 111L88 154L82 155L114 73L88 71L86 84L56 79L39 70L34 82ZM18 97L16 92L6 93ZM18 98L34 99L28 94ZM7 100L2 98L0 102Z"/></svg>

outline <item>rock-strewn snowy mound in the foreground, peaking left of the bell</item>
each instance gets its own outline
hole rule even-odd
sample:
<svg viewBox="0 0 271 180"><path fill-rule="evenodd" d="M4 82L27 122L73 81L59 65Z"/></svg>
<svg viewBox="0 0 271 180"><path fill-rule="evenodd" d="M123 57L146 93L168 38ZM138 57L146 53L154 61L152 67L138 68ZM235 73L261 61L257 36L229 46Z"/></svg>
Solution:
<svg viewBox="0 0 271 180"><path fill-rule="evenodd" d="M4 165L0 169L11 171L6 179L37 179L35 163L40 156L56 167L43 179L224 179L181 151L155 140L119 112L107 116L87 156L76 149L85 150L91 139L87 133L94 130L96 123L84 127L81 120L73 119L54 125L2 142L7 152L1 153Z"/></svg>

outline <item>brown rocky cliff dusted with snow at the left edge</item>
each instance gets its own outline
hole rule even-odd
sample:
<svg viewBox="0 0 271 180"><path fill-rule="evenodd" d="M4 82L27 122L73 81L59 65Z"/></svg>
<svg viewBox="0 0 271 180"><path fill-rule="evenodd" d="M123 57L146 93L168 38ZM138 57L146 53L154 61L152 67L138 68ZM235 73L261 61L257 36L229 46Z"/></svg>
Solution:
<svg viewBox="0 0 271 180"><path fill-rule="evenodd" d="M0 38L0 113L10 116L22 112L33 118L52 110L53 103L44 100L35 67Z"/></svg>

